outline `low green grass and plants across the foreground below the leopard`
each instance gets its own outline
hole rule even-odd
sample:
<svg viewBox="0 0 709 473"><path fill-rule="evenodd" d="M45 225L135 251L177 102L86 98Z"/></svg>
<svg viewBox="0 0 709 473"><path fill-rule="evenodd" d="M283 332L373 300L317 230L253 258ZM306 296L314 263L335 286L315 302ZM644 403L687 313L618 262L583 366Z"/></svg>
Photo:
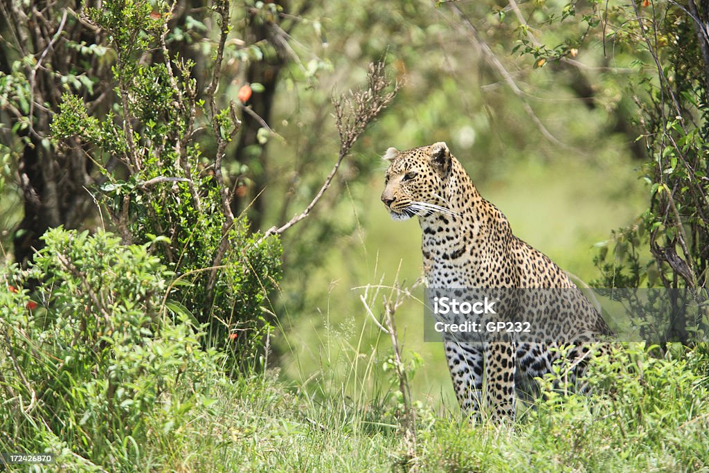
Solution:
<svg viewBox="0 0 709 473"><path fill-rule="evenodd" d="M642 348L630 354L643 373L621 368L611 383L613 396L540 401L536 411L512 425L474 425L454 410L441 416L419 406L413 455L398 433L393 411L381 411L381 399L325 395L280 382L274 372L222 381L216 403L182 433L182 448L160 467L136 465L135 471L708 468L708 389L697 373L706 367L705 355L690 353L687 361L652 359ZM601 369L598 377L609 375ZM662 375L669 379L662 380ZM167 446L152 447L160 453Z"/></svg>

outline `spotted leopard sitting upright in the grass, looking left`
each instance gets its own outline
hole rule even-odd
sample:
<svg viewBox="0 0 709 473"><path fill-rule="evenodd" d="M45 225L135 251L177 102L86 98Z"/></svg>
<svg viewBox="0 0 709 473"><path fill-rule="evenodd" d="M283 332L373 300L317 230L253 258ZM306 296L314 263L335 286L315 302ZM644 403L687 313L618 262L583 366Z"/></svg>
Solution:
<svg viewBox="0 0 709 473"><path fill-rule="evenodd" d="M578 378L594 349L603 346L596 340L611 332L569 274L513 234L506 216L481 196L445 142L403 151L389 148L383 158L388 167L381 201L394 221L418 218L428 287L524 289L515 304L508 304L506 316L537 325L534 336L468 340L443 335L462 412L514 419L515 401L539 394L538 378L552 373L562 345L571 347L566 356ZM525 311L530 298L544 299L551 310L542 316Z"/></svg>

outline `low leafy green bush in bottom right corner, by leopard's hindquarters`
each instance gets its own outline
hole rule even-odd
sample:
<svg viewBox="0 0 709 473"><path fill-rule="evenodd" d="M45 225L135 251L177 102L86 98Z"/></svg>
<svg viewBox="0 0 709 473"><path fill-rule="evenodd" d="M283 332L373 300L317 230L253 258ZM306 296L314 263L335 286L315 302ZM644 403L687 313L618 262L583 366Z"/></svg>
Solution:
<svg viewBox="0 0 709 473"><path fill-rule="evenodd" d="M527 416L526 448L566 452L572 469L696 471L709 460L708 366L702 347L673 345L664 355L657 345L618 348L590 363L591 396L545 391Z"/></svg>

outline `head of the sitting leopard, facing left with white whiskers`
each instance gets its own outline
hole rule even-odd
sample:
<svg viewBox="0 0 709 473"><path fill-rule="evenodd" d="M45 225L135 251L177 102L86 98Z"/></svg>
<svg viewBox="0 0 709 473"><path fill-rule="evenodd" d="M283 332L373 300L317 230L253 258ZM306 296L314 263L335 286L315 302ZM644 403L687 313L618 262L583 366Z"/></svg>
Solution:
<svg viewBox="0 0 709 473"><path fill-rule="evenodd" d="M444 185L450 175L452 156L445 143L399 151L386 150L384 192L381 201L394 220L413 216L428 217L452 211L443 197Z"/></svg>

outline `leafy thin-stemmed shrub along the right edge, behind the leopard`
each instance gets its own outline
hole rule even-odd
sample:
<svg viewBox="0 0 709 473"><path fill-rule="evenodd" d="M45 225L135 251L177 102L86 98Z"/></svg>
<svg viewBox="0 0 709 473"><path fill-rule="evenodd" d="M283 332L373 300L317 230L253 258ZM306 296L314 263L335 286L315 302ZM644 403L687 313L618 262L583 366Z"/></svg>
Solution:
<svg viewBox="0 0 709 473"><path fill-rule="evenodd" d="M597 11L598 4L591 7L586 14L596 21L589 28L601 34L598 18L605 18L604 44L612 42L637 57L634 67L640 74L629 91L642 113L642 135L637 139L647 146L643 170L650 191L648 211L609 240L613 261L606 262L605 247L596 259L603 272L597 284L703 288L709 262L709 40L698 31L709 11L697 11L693 0L686 6L660 2L605 11ZM642 262L644 245L652 253L651 262Z"/></svg>

